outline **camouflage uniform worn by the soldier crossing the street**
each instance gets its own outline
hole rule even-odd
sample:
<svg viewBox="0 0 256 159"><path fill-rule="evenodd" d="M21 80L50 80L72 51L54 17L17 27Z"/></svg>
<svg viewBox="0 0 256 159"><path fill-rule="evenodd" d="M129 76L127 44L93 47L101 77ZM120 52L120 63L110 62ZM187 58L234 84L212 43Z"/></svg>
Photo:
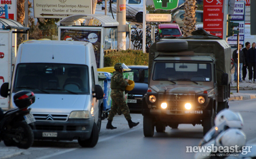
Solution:
<svg viewBox="0 0 256 159"><path fill-rule="evenodd" d="M113 72L113 76L111 77L112 104L107 120L113 121L113 118L117 114L118 109L122 111L122 114L126 120L131 119L129 107L126 104L126 100L124 99L124 90L126 85L128 85L128 83L124 80L122 72Z"/></svg>

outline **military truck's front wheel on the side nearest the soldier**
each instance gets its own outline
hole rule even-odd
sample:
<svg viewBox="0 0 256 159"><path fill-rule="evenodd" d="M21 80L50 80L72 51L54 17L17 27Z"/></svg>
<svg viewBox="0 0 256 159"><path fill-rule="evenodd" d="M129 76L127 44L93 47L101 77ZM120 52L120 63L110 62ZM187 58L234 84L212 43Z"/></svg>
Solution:
<svg viewBox="0 0 256 159"><path fill-rule="evenodd" d="M154 124L151 116L143 116L143 133L145 137L154 136Z"/></svg>

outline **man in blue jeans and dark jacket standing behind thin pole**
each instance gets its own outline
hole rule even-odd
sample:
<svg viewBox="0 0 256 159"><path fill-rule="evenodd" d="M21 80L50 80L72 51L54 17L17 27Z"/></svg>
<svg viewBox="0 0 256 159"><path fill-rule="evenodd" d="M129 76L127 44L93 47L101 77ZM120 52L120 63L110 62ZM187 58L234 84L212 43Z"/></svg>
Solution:
<svg viewBox="0 0 256 159"><path fill-rule="evenodd" d="M233 51L233 60L235 63L235 73L234 73L234 80L235 82L237 82L237 49ZM241 78L241 74L242 74L242 68L243 66L245 66L245 56L243 54L242 51L242 44L239 44L239 82L243 82L242 78Z"/></svg>

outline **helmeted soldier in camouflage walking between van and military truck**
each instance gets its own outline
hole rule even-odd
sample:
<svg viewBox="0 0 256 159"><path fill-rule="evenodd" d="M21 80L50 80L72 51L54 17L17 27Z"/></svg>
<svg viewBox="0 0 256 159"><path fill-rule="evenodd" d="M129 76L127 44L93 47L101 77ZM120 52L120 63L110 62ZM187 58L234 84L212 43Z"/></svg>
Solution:
<svg viewBox="0 0 256 159"><path fill-rule="evenodd" d="M130 128L137 126L139 122L132 122L132 118L130 116L130 110L128 105L126 104L126 100L124 99L124 90L125 86L128 85L128 80L124 80L122 74L124 69L122 67L122 63L117 63L114 66L115 71L111 77L110 88L111 88L111 110L109 112L107 118L107 126L106 129L116 129L117 127L112 126L112 121L114 116L118 113L118 109L122 111L122 114L128 121L128 125ZM120 107L120 108L119 108Z"/></svg>

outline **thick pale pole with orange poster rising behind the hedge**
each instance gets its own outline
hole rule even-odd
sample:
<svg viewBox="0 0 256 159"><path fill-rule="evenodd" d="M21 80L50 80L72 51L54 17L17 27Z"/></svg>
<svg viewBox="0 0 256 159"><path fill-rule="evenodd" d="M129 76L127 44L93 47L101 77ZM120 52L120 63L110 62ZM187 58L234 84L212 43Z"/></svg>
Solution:
<svg viewBox="0 0 256 159"><path fill-rule="evenodd" d="M117 0L117 21L119 26L117 27L117 49L126 50L126 1Z"/></svg>

